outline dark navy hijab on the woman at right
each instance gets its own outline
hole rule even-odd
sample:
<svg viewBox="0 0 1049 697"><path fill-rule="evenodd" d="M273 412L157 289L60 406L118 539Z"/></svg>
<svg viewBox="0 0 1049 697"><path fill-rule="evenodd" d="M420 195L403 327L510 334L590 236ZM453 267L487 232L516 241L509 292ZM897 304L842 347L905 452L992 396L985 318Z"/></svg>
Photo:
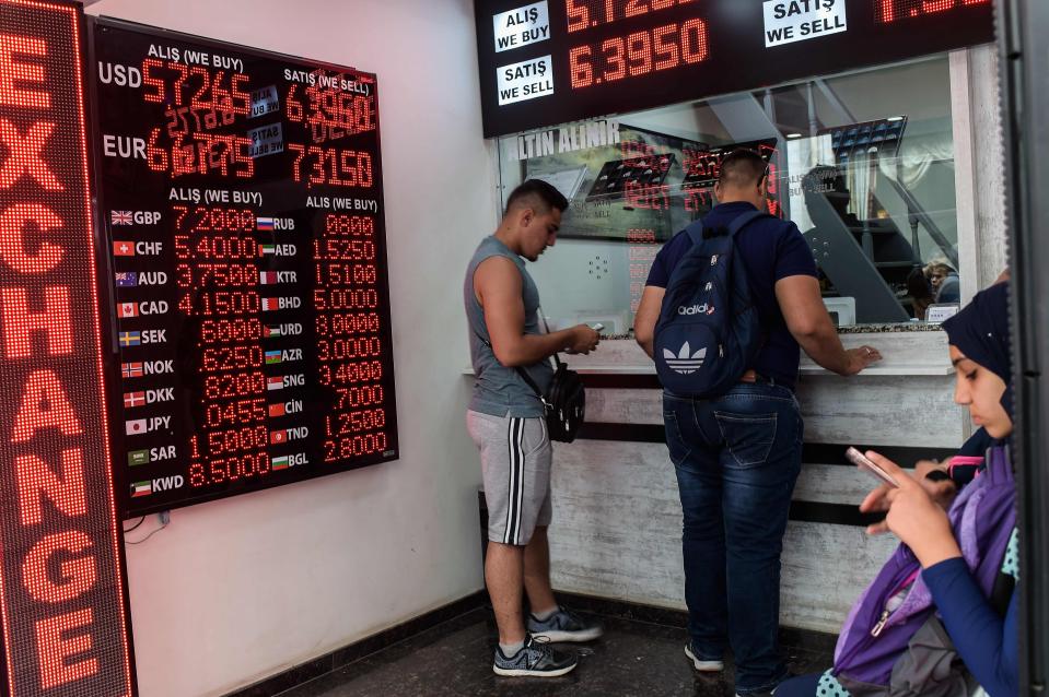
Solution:
<svg viewBox="0 0 1049 697"><path fill-rule="evenodd" d="M965 309L943 323L947 341L1005 381L1002 406L1013 415L1013 361L1009 334L1009 284L977 293Z"/></svg>

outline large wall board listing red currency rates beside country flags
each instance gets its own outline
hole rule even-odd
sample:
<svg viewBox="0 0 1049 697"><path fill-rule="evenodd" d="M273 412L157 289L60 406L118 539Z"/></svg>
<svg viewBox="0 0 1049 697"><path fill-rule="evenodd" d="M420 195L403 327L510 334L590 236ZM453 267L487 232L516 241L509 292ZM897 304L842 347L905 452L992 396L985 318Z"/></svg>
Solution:
<svg viewBox="0 0 1049 697"><path fill-rule="evenodd" d="M90 32L125 516L395 459L375 75Z"/></svg>

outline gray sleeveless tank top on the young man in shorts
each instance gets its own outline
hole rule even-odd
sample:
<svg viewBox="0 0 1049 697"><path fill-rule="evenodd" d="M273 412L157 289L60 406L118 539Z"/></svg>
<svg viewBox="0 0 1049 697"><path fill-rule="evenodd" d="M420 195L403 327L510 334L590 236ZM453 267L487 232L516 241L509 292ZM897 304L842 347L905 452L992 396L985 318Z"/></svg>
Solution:
<svg viewBox="0 0 1049 697"><path fill-rule="evenodd" d="M474 375L477 377L474 382L470 409L492 416L543 416L543 403L539 402L536 393L516 369L499 363L496 354L485 343L485 341L491 342L491 336L485 323L485 310L474 293L474 272L489 257L506 257L521 271L522 300L525 306L524 331L526 334L543 333L539 330L539 290L525 269L524 260L496 237L486 237L474 252L463 284L463 303L466 306L466 319L470 330L470 358L474 363ZM525 369L539 389L546 392L553 377L553 367L550 362L543 361Z"/></svg>

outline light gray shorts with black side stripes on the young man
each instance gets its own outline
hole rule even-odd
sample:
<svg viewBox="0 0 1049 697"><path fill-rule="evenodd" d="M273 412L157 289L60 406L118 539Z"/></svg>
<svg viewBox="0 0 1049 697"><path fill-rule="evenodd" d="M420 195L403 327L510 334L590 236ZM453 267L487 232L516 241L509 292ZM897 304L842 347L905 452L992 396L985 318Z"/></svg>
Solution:
<svg viewBox="0 0 1049 697"><path fill-rule="evenodd" d="M488 539L525 545L536 525L549 525L553 451L543 418L466 412L466 427L481 453Z"/></svg>

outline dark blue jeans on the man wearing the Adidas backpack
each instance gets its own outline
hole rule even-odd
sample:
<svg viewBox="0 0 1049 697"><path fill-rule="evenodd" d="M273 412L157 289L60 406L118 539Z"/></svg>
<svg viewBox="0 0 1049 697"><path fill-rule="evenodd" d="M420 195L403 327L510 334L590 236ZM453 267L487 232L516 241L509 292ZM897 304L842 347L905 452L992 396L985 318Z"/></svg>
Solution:
<svg viewBox="0 0 1049 697"><path fill-rule="evenodd" d="M786 676L779 655L780 552L803 425L784 387L739 383L713 400L663 395L663 418L684 510L685 602L697 658L726 643L736 692Z"/></svg>

